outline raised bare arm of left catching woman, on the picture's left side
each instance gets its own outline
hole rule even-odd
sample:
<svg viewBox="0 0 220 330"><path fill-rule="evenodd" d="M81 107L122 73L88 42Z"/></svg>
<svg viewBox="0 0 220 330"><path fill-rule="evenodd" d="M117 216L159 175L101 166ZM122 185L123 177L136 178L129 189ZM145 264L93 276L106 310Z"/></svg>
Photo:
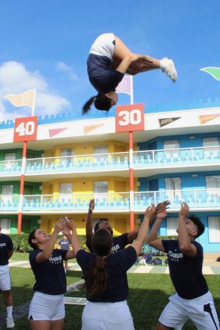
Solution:
<svg viewBox="0 0 220 330"><path fill-rule="evenodd" d="M49 241L47 242L46 246L44 247L43 251L37 254L36 261L37 263L43 263L44 261L48 260L51 256L54 245L56 242L56 239L58 237L58 233L62 231L62 229L65 227L65 220L61 217L58 222L56 222L56 225L53 229L53 233L51 234L51 237L49 238Z"/></svg>

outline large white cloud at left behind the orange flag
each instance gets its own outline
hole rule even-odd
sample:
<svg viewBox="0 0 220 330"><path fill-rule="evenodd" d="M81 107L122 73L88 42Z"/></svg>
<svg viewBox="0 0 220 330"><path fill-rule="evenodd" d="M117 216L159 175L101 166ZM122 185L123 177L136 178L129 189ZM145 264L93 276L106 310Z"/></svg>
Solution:
<svg viewBox="0 0 220 330"><path fill-rule="evenodd" d="M6 94L20 94L33 88L37 90L35 115L56 115L69 108L70 102L65 97L50 90L46 80L39 72L28 72L22 63L10 61L0 66L0 119L7 120L30 115L30 108L13 107L11 110L9 101L4 96Z"/></svg>

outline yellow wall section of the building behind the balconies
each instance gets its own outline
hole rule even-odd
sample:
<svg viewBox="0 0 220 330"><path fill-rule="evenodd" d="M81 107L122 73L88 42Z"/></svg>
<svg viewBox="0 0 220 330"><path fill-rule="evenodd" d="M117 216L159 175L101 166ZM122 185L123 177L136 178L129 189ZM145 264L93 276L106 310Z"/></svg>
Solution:
<svg viewBox="0 0 220 330"><path fill-rule="evenodd" d="M82 142L80 144L69 144L69 145L57 145L50 150L45 151L45 157L60 157L61 149L73 149L74 155L87 155L94 154L94 146L105 145L108 147L108 153L114 152L124 152L128 151L128 143L117 142L117 141L100 141L100 142ZM135 148L135 145L134 145ZM86 174L85 174L86 175ZM93 183L94 181L108 181L108 192L129 192L129 179L121 178L117 176L106 176L106 177L90 177L90 178L65 178L65 179L53 179L48 182L42 182L43 190L42 195L58 195L59 194L59 184L60 183L72 183L74 193L92 193L93 192ZM134 179L137 181L137 179ZM137 191L137 187L134 183L134 190ZM61 216L61 215L60 215ZM53 227L56 224L56 221L60 217L58 215L43 215L41 228L47 232L51 233ZM63 215L65 216L65 214ZM85 221L87 214L82 215L69 215L76 222L76 228L78 234L85 235ZM114 235L120 235L129 231L129 215L105 215L99 214L95 215L94 218L108 218Z"/></svg>

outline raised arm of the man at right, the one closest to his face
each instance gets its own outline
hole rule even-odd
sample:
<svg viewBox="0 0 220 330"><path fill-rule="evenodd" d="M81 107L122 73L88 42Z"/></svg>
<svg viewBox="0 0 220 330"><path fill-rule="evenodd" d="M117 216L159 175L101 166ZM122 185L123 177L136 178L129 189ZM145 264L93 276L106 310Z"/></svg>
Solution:
<svg viewBox="0 0 220 330"><path fill-rule="evenodd" d="M187 226L185 223L185 218L189 215L189 206L187 203L181 203L181 208L179 212L179 220L178 220L178 240L180 245L180 251L187 256L196 256L196 247L192 244L189 233L187 231Z"/></svg>

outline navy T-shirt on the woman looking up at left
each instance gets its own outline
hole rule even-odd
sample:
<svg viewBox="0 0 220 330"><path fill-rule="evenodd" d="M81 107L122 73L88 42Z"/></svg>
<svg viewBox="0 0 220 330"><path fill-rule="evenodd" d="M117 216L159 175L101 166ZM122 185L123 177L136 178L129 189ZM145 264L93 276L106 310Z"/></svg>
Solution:
<svg viewBox="0 0 220 330"><path fill-rule="evenodd" d="M63 295L67 291L67 279L63 260L67 250L54 249L50 258L43 263L37 263L36 256L41 249L33 250L29 254L29 261L35 275L34 291L47 295Z"/></svg>

